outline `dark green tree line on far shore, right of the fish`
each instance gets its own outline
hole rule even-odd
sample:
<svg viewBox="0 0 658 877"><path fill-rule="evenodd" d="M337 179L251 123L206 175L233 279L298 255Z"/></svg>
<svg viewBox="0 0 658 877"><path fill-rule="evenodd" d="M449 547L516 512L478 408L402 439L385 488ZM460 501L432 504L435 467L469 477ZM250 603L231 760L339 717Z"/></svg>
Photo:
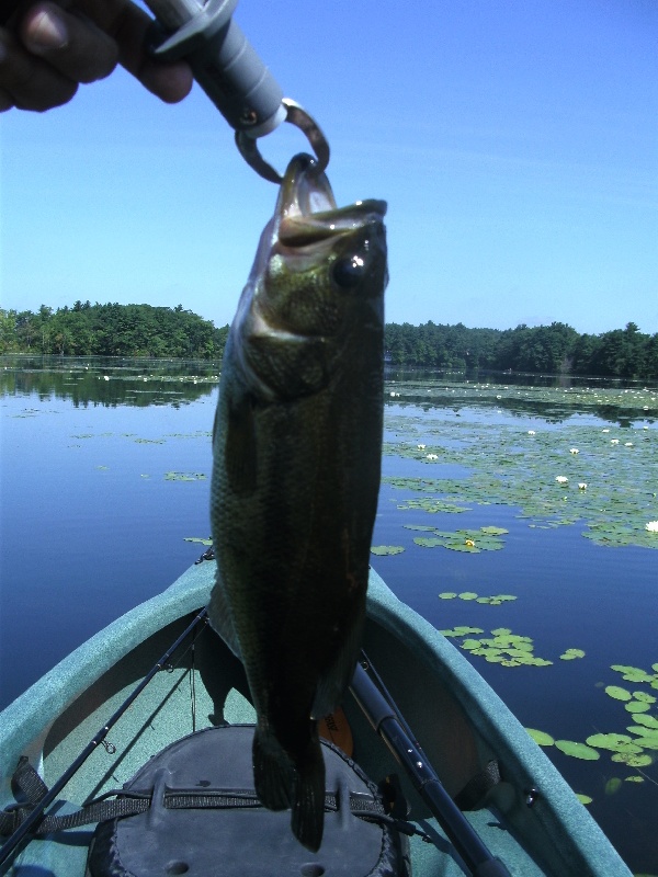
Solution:
<svg viewBox="0 0 658 877"><path fill-rule="evenodd" d="M658 378L658 333L644 334L634 322L601 334L563 322L506 330L388 323L385 338L393 365Z"/></svg>

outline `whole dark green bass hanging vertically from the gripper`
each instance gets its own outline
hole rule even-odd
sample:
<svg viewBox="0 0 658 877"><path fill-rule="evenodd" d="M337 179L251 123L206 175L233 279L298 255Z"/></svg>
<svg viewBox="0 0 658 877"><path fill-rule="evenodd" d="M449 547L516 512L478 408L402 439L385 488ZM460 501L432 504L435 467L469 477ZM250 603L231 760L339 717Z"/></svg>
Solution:
<svg viewBox="0 0 658 877"><path fill-rule="evenodd" d="M213 429L214 629L242 660L253 779L322 840L318 720L354 672L381 477L386 203L338 208L313 158L282 179L223 358Z"/></svg>

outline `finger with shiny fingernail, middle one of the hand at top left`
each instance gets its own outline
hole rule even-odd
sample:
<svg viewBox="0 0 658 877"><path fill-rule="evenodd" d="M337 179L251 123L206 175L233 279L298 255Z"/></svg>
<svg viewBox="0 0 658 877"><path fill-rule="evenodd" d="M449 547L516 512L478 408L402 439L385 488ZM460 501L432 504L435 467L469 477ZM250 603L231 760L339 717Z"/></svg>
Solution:
<svg viewBox="0 0 658 877"><path fill-rule="evenodd" d="M50 2L29 10L21 22L21 38L32 54L75 82L103 79L118 60L118 48L111 36L92 21Z"/></svg>

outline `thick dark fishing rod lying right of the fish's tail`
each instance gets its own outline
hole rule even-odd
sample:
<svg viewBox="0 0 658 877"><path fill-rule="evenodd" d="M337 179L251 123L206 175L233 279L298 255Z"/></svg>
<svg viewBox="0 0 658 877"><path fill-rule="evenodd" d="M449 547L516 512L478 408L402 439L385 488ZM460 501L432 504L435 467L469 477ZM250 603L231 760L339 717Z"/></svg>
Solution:
<svg viewBox="0 0 658 877"><path fill-rule="evenodd" d="M487 848L479 834L445 790L386 686L362 652L350 691L361 710L405 768L413 788L462 856L473 877L511 877L507 866ZM376 683L365 668L372 670Z"/></svg>

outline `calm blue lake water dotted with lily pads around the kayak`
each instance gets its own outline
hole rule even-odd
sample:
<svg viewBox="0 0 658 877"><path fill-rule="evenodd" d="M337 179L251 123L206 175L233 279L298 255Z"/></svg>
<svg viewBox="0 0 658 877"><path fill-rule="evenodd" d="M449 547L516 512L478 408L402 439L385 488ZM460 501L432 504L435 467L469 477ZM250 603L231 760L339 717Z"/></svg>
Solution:
<svg viewBox="0 0 658 877"><path fill-rule="evenodd" d="M214 368L0 358L0 707L204 550L185 539L209 535ZM388 376L373 566L439 629L468 626L452 641L556 741L658 726L657 424L655 386ZM517 659L496 636L522 638ZM635 761L546 752L658 874L645 739Z"/></svg>

